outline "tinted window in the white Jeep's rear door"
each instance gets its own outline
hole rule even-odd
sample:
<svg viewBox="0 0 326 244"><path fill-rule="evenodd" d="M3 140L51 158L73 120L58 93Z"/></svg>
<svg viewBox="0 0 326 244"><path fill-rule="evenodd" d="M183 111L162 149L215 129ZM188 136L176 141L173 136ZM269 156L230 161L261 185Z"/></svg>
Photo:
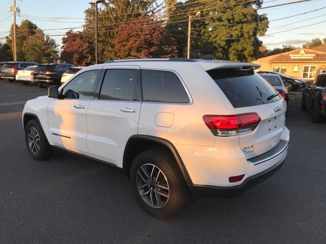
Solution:
<svg viewBox="0 0 326 244"><path fill-rule="evenodd" d="M99 99L137 101L139 70L107 69Z"/></svg>

